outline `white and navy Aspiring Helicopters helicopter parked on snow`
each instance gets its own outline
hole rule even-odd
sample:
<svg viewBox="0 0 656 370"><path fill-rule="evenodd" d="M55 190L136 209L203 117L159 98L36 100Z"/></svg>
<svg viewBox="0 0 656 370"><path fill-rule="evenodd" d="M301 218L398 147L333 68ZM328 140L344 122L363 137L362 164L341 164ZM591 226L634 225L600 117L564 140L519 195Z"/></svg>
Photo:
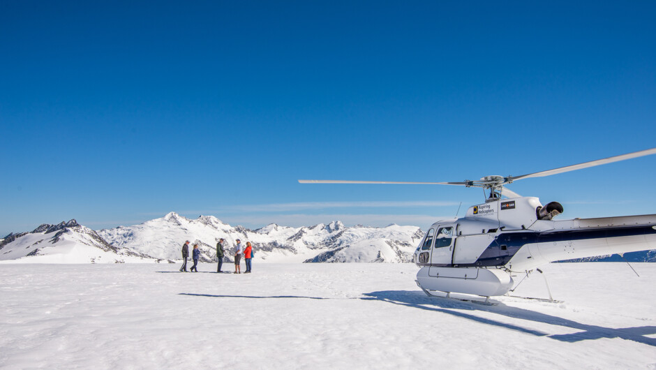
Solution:
<svg viewBox="0 0 656 370"><path fill-rule="evenodd" d="M301 184L438 184L483 188L489 197L462 218L428 228L412 260L420 267L417 286L437 292L491 297L506 295L513 276L549 262L656 249L656 214L554 221L559 202L542 205L506 187L521 179L545 177L656 154L656 148L519 176L491 175L463 182L373 182L299 180ZM549 293L551 297L551 293Z"/></svg>

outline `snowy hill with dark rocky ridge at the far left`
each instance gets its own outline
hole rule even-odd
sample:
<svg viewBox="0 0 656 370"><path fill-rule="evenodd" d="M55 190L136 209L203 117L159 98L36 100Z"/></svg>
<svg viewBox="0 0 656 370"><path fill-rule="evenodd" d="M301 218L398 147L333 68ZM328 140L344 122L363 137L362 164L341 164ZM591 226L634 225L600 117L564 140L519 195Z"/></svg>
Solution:
<svg viewBox="0 0 656 370"><path fill-rule="evenodd" d="M31 232L9 234L0 241L0 260L45 263L156 262L130 249L117 249L75 219L44 223Z"/></svg>

